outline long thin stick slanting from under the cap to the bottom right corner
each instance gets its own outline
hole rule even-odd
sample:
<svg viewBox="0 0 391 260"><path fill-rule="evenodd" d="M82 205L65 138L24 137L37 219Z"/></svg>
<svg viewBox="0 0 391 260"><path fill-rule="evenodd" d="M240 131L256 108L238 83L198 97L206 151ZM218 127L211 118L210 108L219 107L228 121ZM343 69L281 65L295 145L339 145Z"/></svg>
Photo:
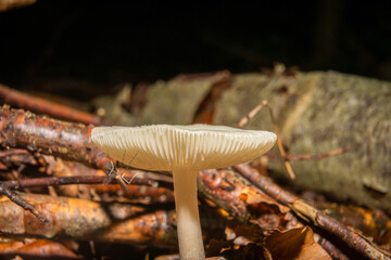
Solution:
<svg viewBox="0 0 391 260"><path fill-rule="evenodd" d="M390 253L380 249L368 238L365 238L344 224L330 218L326 213L315 209L313 206L305 203L297 195L282 190L269 178L258 174L258 172L256 172L256 170L250 166L238 165L235 166L235 169L237 169L241 174L254 183L258 188L264 191L267 195L289 206L293 211L297 212L299 217L302 217L316 226L320 226L323 230L326 230L338 236L342 242L346 243L350 247L354 248L363 256L369 259L391 259Z"/></svg>

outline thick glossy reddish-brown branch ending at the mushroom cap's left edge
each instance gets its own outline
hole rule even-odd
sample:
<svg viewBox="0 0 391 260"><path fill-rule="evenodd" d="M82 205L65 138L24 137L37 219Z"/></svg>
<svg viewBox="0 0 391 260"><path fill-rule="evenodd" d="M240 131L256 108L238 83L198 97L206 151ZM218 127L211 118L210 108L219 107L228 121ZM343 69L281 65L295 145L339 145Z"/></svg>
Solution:
<svg viewBox="0 0 391 260"><path fill-rule="evenodd" d="M92 128L37 116L9 106L0 108L2 147L27 148L30 152L110 169L112 160L90 139Z"/></svg>

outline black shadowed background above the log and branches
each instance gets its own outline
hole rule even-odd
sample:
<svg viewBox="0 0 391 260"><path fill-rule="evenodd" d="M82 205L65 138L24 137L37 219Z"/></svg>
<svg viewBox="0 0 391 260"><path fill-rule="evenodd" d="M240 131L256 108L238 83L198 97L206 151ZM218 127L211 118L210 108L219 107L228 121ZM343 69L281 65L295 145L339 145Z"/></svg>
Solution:
<svg viewBox="0 0 391 260"><path fill-rule="evenodd" d="M274 62L391 80L388 1L164 3L38 0L0 13L0 82L87 100Z"/></svg>

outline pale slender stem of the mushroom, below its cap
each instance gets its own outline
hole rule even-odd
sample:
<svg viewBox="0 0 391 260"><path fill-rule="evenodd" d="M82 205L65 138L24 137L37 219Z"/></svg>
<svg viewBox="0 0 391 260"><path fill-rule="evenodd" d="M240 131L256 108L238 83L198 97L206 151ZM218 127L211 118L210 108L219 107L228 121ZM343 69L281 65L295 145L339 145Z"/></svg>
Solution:
<svg viewBox="0 0 391 260"><path fill-rule="evenodd" d="M197 171L173 171L180 259L204 259L197 199Z"/></svg>

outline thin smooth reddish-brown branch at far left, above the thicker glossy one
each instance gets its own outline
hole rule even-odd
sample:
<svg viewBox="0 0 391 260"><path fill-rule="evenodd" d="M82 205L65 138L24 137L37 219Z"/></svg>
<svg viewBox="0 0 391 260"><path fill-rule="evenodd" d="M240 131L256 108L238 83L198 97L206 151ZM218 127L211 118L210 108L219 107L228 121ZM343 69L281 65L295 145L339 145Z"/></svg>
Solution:
<svg viewBox="0 0 391 260"><path fill-rule="evenodd" d="M12 106L23 107L34 113L48 115L63 120L93 125L103 123L102 119L96 115L77 110L75 108L71 108L68 106L50 102L40 98L28 95L1 83L0 100L3 103Z"/></svg>

